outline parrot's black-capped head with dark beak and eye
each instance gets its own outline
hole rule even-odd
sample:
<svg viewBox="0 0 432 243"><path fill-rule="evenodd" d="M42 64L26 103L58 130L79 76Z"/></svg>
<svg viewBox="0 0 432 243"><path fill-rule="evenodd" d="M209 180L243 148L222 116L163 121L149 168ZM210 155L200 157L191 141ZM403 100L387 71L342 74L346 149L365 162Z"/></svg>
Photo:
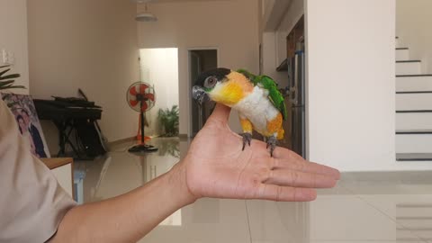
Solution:
<svg viewBox="0 0 432 243"><path fill-rule="evenodd" d="M220 82L226 80L226 76L231 73L228 68L220 67L203 72L196 79L195 85L192 88L193 99L198 103L203 103L210 100L209 92Z"/></svg>

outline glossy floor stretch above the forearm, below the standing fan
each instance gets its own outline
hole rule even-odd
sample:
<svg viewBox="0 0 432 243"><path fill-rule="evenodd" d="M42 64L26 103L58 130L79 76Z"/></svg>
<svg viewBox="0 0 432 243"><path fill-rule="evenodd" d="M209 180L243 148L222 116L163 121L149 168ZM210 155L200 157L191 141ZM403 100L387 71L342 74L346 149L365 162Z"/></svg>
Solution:
<svg viewBox="0 0 432 243"><path fill-rule="evenodd" d="M158 149L150 154L130 154L133 141L114 145L104 157L94 161L77 161L75 169L85 172L84 202L96 202L128 192L158 175L166 173L180 160L181 149L187 140L156 138L150 143ZM185 152L185 151L184 151Z"/></svg>

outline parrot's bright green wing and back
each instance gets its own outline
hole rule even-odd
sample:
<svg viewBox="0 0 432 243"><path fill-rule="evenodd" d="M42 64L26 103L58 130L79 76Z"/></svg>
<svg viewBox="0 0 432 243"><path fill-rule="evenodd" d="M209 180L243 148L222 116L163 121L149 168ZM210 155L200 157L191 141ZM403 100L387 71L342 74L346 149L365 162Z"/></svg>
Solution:
<svg viewBox="0 0 432 243"><path fill-rule="evenodd" d="M281 94L277 87L277 83L270 76L256 76L253 75L247 70L238 69L238 73L247 76L247 78L254 83L254 85L259 85L266 90L268 90L268 99L275 105L276 109L282 113L284 120L288 117L288 113L286 112L286 106L284 103L284 95Z"/></svg>

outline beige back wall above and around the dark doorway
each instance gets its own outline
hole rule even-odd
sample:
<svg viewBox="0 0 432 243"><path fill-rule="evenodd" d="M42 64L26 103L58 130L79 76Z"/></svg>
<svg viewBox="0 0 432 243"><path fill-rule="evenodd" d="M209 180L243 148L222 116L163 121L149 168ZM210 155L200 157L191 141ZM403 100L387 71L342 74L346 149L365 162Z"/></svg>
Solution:
<svg viewBox="0 0 432 243"><path fill-rule="evenodd" d="M140 4L139 11L143 8ZM180 133L187 134L191 99L187 49L218 48L220 67L244 67L257 73L258 1L148 4L148 10L158 21L139 23L139 48L178 48ZM229 123L231 129L240 131L236 112Z"/></svg>

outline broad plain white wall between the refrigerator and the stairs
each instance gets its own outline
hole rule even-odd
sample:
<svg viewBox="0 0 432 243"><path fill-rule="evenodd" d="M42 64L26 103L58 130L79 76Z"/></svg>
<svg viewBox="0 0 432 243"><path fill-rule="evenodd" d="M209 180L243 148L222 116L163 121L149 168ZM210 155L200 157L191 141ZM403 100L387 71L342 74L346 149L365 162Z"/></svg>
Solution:
<svg viewBox="0 0 432 243"><path fill-rule="evenodd" d="M432 167L395 162L395 11L395 0L306 2L311 161L343 171Z"/></svg>

